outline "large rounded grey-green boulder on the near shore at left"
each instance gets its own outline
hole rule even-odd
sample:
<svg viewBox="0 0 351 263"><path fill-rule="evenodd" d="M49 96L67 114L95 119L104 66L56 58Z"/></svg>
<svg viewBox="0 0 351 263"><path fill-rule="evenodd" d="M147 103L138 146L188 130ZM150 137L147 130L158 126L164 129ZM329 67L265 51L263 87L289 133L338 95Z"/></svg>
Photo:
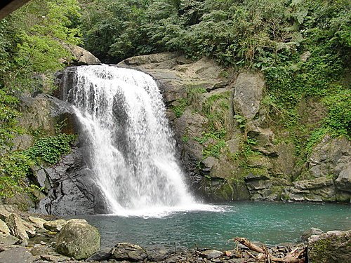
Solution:
<svg viewBox="0 0 351 263"><path fill-rule="evenodd" d="M98 229L85 220L69 220L58 234L55 250L74 259L86 259L100 249Z"/></svg>

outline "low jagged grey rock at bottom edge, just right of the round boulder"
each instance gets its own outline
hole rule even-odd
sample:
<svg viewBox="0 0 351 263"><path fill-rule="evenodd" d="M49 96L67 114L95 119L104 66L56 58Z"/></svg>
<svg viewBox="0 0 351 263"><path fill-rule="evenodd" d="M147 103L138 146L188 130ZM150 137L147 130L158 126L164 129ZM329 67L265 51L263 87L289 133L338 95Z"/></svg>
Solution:
<svg viewBox="0 0 351 263"><path fill-rule="evenodd" d="M132 243L117 243L117 245L112 248L111 254L114 259L132 262L141 262L147 258L146 250Z"/></svg>

